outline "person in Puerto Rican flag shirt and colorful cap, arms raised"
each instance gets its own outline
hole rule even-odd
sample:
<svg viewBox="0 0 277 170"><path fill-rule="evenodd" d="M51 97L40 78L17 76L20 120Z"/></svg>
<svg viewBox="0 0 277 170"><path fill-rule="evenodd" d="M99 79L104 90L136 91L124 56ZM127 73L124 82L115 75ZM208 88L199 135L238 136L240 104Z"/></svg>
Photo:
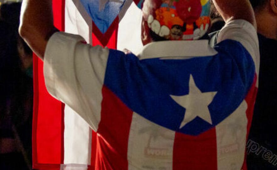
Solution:
<svg viewBox="0 0 277 170"><path fill-rule="evenodd" d="M249 0L213 0L226 25L212 48L208 0L141 0L138 56L57 31L51 1L24 0L20 35L48 92L97 133L96 169L246 169L259 49Z"/></svg>

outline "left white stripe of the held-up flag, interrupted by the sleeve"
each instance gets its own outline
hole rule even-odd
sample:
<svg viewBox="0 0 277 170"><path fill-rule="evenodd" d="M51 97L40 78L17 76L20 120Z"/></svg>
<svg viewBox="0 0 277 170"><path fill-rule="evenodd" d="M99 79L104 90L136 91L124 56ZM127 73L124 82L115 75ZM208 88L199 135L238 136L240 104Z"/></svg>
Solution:
<svg viewBox="0 0 277 170"><path fill-rule="evenodd" d="M79 0L65 0L65 32L81 35L92 43L92 20ZM90 164L91 133L89 125L65 106L64 164Z"/></svg>

